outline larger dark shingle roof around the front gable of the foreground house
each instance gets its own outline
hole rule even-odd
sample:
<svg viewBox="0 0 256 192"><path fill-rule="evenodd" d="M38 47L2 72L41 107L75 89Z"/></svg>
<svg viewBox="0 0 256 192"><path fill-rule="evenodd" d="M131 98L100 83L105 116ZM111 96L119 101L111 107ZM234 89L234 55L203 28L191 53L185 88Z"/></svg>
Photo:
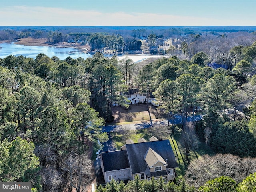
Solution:
<svg viewBox="0 0 256 192"><path fill-rule="evenodd" d="M167 168L178 167L169 140L126 144L126 150L133 174L142 173L146 170L147 164L144 160L144 155L149 147L157 152L165 161L167 159Z"/></svg>

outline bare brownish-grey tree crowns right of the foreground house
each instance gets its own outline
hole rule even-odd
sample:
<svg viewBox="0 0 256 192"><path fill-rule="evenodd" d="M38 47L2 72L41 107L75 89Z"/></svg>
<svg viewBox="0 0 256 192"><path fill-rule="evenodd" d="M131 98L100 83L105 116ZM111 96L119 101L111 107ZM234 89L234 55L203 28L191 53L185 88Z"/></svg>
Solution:
<svg viewBox="0 0 256 192"><path fill-rule="evenodd" d="M185 180L196 188L208 180L229 176L241 182L249 174L256 172L256 158L240 158L231 154L204 155L190 163Z"/></svg>

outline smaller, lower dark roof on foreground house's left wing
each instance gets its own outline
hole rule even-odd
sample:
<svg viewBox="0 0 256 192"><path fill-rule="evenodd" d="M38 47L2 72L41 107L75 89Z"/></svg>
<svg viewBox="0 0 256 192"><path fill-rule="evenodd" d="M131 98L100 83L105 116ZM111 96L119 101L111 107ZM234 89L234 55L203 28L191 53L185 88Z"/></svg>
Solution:
<svg viewBox="0 0 256 192"><path fill-rule="evenodd" d="M126 150L102 152L101 156L105 172L130 168Z"/></svg>

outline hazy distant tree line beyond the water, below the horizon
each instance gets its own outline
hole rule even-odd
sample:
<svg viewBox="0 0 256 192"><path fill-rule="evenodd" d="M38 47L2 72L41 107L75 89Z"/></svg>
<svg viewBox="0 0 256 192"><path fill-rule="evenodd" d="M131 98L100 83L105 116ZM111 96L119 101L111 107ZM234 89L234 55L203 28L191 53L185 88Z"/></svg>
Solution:
<svg viewBox="0 0 256 192"><path fill-rule="evenodd" d="M122 28L119 29L119 28ZM0 40L14 41L18 38L44 38L52 43L89 43L91 50L117 53L122 51L146 50L151 53L167 53L191 59L199 52L208 55L208 62L223 64L228 68L236 65L243 52L252 57L247 50L256 40L253 27L234 29L222 27L12 27L0 30ZM163 50L164 41L170 39L171 44ZM142 42L145 41L146 47ZM155 52L154 46L158 46ZM148 52L148 53L149 53ZM235 64L234 64L235 63Z"/></svg>

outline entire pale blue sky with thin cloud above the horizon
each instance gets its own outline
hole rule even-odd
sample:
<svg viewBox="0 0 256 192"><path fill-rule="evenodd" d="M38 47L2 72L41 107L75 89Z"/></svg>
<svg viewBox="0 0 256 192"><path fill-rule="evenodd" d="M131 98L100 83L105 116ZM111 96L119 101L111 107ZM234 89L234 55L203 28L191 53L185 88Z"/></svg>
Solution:
<svg viewBox="0 0 256 192"><path fill-rule="evenodd" d="M256 0L0 0L0 26L256 26Z"/></svg>

